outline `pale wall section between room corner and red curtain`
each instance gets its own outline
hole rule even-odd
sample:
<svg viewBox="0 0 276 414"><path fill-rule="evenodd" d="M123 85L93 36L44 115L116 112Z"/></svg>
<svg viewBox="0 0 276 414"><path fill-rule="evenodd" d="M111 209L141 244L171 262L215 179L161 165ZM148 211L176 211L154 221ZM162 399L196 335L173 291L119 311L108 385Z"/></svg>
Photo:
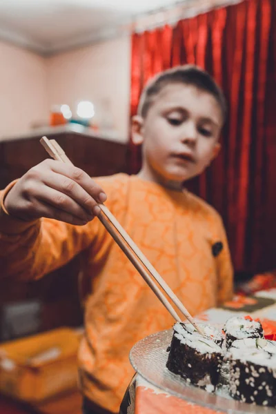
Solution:
<svg viewBox="0 0 276 414"><path fill-rule="evenodd" d="M79 100L90 100L101 115L108 102L118 139L128 139L130 37L62 53L46 65L49 108L56 103L75 108Z"/></svg>

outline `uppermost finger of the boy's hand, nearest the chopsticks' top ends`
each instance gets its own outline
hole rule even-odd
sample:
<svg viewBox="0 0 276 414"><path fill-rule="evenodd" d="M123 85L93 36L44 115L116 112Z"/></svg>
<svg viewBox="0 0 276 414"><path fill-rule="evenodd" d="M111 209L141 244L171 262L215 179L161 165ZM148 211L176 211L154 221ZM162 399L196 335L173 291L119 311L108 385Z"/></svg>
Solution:
<svg viewBox="0 0 276 414"><path fill-rule="evenodd" d="M48 160L50 163L50 168L52 171L59 173L60 175L65 175L66 177L75 181L79 186L81 186L86 192L97 202L103 203L106 201L106 194L104 193L103 189L95 183L89 177L86 172L77 168L75 166L71 166L69 164L63 164L59 161L52 161Z"/></svg>

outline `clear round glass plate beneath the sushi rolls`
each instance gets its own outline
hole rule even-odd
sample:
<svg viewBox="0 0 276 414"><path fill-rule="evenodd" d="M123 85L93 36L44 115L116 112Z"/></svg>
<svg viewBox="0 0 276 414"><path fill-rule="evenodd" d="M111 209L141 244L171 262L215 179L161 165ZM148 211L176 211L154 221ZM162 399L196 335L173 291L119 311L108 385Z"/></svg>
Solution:
<svg viewBox="0 0 276 414"><path fill-rule="evenodd" d="M216 393L208 393L193 385L189 385L179 375L168 371L167 348L172 339L172 329L150 335L137 342L130 351L130 363L141 377L150 384L181 398L195 402L201 406L213 408L228 414L254 413L275 414L275 408L255 406L233 400L228 395L227 386L222 386Z"/></svg>

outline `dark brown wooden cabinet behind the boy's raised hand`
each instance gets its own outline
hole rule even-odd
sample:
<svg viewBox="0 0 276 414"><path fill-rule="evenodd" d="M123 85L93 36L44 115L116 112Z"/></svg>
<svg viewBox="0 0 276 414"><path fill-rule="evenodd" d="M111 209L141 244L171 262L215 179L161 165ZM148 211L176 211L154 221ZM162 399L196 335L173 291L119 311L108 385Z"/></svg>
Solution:
<svg viewBox="0 0 276 414"><path fill-rule="evenodd" d="M126 172L126 144L101 139L91 132L76 133L68 128L59 132L47 131L45 135L56 139L72 162L92 177ZM10 181L48 157L39 143L40 138L39 134L0 141L0 188L5 188ZM78 326L82 322L78 272L79 258L76 257L70 264L37 282L19 284L1 277L0 307L10 302L39 299L42 304L41 331L63 325Z"/></svg>

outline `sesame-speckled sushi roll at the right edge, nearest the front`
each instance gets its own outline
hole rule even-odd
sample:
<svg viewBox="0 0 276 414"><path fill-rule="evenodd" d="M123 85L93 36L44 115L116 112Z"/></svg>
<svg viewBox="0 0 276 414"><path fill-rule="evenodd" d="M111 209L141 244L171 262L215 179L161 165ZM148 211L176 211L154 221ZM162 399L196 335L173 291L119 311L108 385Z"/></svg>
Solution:
<svg viewBox="0 0 276 414"><path fill-rule="evenodd" d="M227 356L230 395L235 400L276 406L276 346L263 338L238 339Z"/></svg>

